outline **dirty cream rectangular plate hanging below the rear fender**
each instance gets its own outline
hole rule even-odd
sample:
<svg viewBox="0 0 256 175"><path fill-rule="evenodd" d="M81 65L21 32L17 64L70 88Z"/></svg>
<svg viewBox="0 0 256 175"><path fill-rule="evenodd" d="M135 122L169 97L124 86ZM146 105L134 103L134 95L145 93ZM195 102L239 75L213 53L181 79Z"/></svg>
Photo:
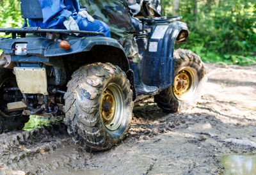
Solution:
<svg viewBox="0 0 256 175"><path fill-rule="evenodd" d="M48 95L45 68L15 67L13 70L18 87L22 93Z"/></svg>

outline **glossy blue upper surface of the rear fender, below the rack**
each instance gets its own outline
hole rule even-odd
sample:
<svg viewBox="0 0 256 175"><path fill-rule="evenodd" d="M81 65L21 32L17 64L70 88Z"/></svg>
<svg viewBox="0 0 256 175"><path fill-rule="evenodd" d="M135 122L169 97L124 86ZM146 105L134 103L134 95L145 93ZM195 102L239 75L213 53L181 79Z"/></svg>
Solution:
<svg viewBox="0 0 256 175"><path fill-rule="evenodd" d="M10 38L0 40L0 49L4 51L4 54L14 55L12 49L15 43L27 43L28 55L43 57L65 56L86 52L90 51L95 45L110 45L121 49L124 52L122 46L115 39L104 36L70 36L66 41L70 44L70 49L68 50L62 49L59 42L54 42L54 40L49 40L40 36L15 39Z"/></svg>

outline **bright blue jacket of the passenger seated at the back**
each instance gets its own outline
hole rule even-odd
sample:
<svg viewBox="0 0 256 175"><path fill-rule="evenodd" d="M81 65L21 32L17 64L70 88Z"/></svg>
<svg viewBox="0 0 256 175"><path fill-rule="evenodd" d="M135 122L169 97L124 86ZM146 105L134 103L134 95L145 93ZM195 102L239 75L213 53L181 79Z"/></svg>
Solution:
<svg viewBox="0 0 256 175"><path fill-rule="evenodd" d="M78 0L38 0L42 9L44 20L29 19L29 26L62 29L63 21L70 16L77 15L80 8Z"/></svg>

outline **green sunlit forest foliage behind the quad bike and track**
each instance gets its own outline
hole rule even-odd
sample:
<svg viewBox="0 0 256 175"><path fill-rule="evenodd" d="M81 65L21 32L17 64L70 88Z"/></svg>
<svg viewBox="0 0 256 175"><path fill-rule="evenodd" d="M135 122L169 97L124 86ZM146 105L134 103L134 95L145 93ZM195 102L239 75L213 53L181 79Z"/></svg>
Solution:
<svg viewBox="0 0 256 175"><path fill-rule="evenodd" d="M21 27L20 1L0 0L0 27ZM256 65L256 0L162 0L163 15L182 16L190 34L177 45L207 63ZM2 35L3 36L3 35Z"/></svg>

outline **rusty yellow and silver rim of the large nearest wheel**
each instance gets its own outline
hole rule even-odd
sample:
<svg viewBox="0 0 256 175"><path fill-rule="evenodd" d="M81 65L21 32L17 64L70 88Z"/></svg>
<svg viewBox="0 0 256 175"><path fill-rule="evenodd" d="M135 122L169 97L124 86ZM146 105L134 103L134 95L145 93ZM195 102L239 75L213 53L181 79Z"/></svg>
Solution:
<svg viewBox="0 0 256 175"><path fill-rule="evenodd" d="M100 116L108 130L116 130L122 123L124 116L124 94L120 86L108 84L102 93L100 102Z"/></svg>

